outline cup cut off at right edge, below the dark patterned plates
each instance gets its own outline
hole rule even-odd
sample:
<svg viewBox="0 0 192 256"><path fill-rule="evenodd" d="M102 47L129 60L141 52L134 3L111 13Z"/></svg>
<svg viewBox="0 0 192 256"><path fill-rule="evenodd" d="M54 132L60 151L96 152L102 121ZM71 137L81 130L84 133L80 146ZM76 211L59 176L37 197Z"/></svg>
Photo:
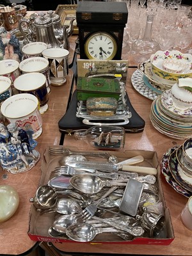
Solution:
<svg viewBox="0 0 192 256"><path fill-rule="evenodd" d="M189 197L187 204L180 214L180 218L186 228L192 230L192 196Z"/></svg>

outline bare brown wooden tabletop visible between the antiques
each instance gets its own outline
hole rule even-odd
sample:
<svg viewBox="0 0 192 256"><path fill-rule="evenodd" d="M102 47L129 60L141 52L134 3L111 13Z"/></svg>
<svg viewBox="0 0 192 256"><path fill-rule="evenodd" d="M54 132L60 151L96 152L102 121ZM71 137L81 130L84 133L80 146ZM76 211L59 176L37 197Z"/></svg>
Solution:
<svg viewBox="0 0 192 256"><path fill-rule="evenodd" d="M70 60L72 60L75 49L74 40L76 36L70 38ZM126 134L124 149L152 150L157 152L159 163L164 152L170 147L180 145L182 140L174 140L159 133L152 126L149 113L152 101L140 95L131 85L131 75L136 68L129 68L126 89L132 106L138 114L145 120L145 129L141 133ZM29 199L35 195L38 188L41 170L40 165L45 149L49 145L59 145L61 134L58 129L58 121L64 115L67 108L68 97L70 93L70 81L72 79L72 70L67 76L67 83L63 86L51 86L49 94L49 109L42 115L43 132L37 139L36 150L40 152L40 161L34 168L26 173L13 175L0 170L0 184L9 184L17 189L20 196L20 204L17 212L4 223L0 223L0 254L18 255L27 252L35 245L28 237L28 221L31 203ZM75 146L83 150L92 149L82 141L74 140L73 136L65 136L64 145ZM3 178L6 179L3 179ZM175 192L167 184L163 175L161 177L166 206L170 208L172 216L175 240L170 246L158 245L127 245L127 244L86 244L86 243L54 243L54 246L63 252L78 253L114 253L116 254L138 254L138 255L191 255L191 231L189 231L180 220L180 212L186 204L188 198Z"/></svg>

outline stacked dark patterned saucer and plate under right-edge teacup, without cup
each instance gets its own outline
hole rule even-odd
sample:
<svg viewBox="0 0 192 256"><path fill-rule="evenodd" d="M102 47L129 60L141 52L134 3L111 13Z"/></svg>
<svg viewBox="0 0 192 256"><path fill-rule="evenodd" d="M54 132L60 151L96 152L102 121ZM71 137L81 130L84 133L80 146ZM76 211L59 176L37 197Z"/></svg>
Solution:
<svg viewBox="0 0 192 256"><path fill-rule="evenodd" d="M161 160L161 172L166 182L175 191L186 197L192 196L192 177L186 175L179 165L180 150L182 146L169 148Z"/></svg>

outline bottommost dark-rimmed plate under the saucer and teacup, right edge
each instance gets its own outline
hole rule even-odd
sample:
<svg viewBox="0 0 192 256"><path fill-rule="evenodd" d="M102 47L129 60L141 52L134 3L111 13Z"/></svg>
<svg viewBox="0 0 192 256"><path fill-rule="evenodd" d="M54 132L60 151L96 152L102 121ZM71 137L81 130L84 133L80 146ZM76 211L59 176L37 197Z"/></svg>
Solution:
<svg viewBox="0 0 192 256"><path fill-rule="evenodd" d="M170 184L170 186L172 186L172 188L175 189L177 193L189 198L190 196L192 196L192 193L187 189L182 188L182 186L180 186L180 184L178 184L175 179L173 179L172 173L170 172L168 167L170 154L172 154L177 147L169 148L168 151L163 155L163 158L161 160L161 173L163 173L166 182L168 182L168 184Z"/></svg>

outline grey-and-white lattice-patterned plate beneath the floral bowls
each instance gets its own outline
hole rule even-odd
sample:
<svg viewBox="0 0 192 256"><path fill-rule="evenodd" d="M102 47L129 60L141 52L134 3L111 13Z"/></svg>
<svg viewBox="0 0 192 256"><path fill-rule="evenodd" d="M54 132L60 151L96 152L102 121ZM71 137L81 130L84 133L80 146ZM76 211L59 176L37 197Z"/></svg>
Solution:
<svg viewBox="0 0 192 256"><path fill-rule="evenodd" d="M160 93L160 90L154 88L150 83L147 81L147 77L145 82L143 80L144 76L140 70L136 70L131 76L131 83L135 90L146 97L147 99L154 100L156 99Z"/></svg>

